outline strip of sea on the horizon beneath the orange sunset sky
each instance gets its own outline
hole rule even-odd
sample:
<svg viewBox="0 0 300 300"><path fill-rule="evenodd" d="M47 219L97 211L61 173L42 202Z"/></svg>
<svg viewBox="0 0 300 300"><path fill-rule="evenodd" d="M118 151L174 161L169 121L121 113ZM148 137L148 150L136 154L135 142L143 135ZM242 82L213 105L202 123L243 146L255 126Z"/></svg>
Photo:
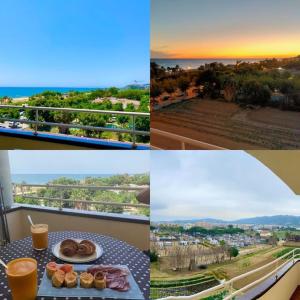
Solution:
<svg viewBox="0 0 300 300"><path fill-rule="evenodd" d="M224 65L232 65L236 64L236 62L240 60L243 62L259 62L258 59L162 59L162 58L155 58L151 59L151 62L156 62L158 65L162 67L170 67L173 68L178 65L180 68L189 70L189 69L198 69L200 66L204 66L205 64L210 64L213 62L222 63Z"/></svg>

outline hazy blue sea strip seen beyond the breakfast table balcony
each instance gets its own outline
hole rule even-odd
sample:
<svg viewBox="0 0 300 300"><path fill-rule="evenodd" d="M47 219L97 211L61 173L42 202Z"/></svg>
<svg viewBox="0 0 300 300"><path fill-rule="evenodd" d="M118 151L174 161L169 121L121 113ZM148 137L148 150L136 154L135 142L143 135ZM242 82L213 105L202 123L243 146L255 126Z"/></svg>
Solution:
<svg viewBox="0 0 300 300"><path fill-rule="evenodd" d="M12 174L13 183L46 184L57 178L67 177L74 180L82 180L86 177L107 178L115 174Z"/></svg>

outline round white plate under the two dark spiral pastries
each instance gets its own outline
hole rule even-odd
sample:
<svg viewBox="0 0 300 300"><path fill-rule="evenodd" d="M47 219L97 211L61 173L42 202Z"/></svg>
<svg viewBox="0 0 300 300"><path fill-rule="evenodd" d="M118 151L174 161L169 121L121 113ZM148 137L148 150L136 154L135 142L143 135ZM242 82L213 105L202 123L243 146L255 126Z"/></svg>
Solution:
<svg viewBox="0 0 300 300"><path fill-rule="evenodd" d="M82 240L79 240L79 239L73 239L74 241L76 241L77 243L80 243ZM52 247L52 253L55 257L63 260L63 261L66 261L66 262L71 262L71 263L77 263L77 264L81 264L81 263L86 263L86 262L91 262L91 261L94 261L96 259L98 259L99 257L102 256L103 254L103 248L98 245L97 243L93 242L96 246L96 251L94 254L92 255L89 255L89 256L80 256L78 254L75 254L74 256L70 257L70 256L65 256L61 253L60 251L60 244L62 243L63 241L60 241L59 243L57 243L56 245L54 245Z"/></svg>

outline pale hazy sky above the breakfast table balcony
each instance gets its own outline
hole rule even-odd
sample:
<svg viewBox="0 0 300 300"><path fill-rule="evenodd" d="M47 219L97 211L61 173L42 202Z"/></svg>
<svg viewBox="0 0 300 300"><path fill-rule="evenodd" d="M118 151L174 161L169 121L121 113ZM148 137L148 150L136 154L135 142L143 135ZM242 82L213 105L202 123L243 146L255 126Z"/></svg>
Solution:
<svg viewBox="0 0 300 300"><path fill-rule="evenodd" d="M12 174L141 174L149 151L9 151Z"/></svg>

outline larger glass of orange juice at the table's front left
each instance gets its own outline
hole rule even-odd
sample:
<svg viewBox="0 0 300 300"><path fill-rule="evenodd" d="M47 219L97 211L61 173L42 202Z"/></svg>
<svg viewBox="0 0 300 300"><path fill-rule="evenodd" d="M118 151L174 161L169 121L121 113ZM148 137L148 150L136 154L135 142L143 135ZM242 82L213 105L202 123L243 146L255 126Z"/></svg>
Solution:
<svg viewBox="0 0 300 300"><path fill-rule="evenodd" d="M6 275L13 300L34 300L37 296L37 261L18 258L7 264Z"/></svg>

